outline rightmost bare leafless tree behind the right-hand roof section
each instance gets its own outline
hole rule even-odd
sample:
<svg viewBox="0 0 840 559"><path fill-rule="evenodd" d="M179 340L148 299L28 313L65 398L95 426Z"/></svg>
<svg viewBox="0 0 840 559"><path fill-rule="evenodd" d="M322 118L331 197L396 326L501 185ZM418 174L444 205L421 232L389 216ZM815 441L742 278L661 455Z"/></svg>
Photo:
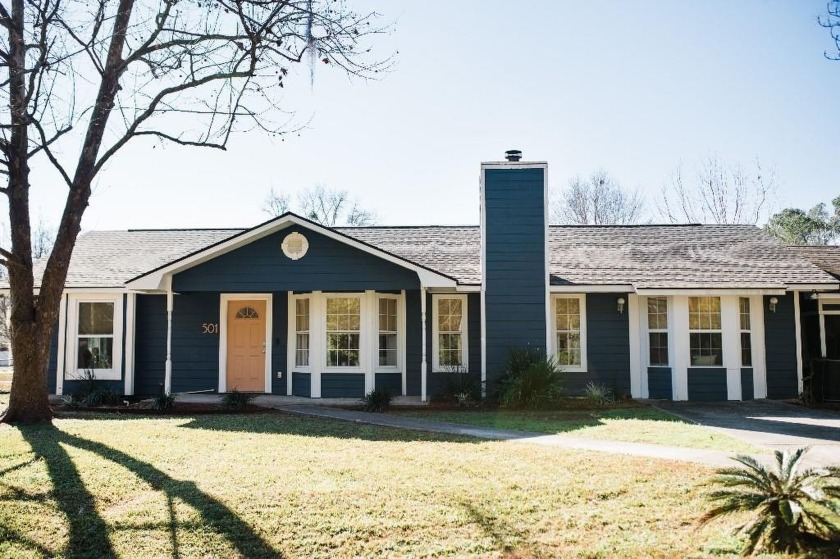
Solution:
<svg viewBox="0 0 840 559"><path fill-rule="evenodd" d="M686 180L678 167L662 188L659 215L671 223L747 223L756 225L769 212L776 176L756 160L749 171L709 156Z"/></svg>

